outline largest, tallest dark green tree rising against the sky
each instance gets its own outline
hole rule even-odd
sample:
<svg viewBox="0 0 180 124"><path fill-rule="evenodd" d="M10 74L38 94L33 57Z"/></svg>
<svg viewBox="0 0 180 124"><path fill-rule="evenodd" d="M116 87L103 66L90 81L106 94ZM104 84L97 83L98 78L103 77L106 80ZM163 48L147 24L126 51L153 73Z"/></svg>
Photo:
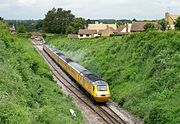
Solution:
<svg viewBox="0 0 180 124"><path fill-rule="evenodd" d="M62 8L48 11L43 21L43 28L49 33L65 34L66 30L73 20L74 15L70 10L63 10Z"/></svg>

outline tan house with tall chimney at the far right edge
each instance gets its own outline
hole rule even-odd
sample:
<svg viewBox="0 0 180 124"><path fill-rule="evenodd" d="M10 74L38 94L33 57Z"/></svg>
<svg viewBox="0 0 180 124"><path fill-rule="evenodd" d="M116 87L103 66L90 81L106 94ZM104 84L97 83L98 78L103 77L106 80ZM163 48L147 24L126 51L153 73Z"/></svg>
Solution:
<svg viewBox="0 0 180 124"><path fill-rule="evenodd" d="M165 13L165 20L168 22L170 29L174 29L175 25L174 23L176 22L176 19L180 17L180 15L173 15L168 12Z"/></svg>

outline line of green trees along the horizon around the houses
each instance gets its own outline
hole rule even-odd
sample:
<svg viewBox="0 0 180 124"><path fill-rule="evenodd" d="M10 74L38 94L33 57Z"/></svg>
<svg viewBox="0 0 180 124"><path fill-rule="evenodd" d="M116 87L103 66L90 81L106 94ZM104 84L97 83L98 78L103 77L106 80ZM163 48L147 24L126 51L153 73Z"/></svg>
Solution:
<svg viewBox="0 0 180 124"><path fill-rule="evenodd" d="M0 20L3 18L0 17ZM85 20L84 18L77 18L70 10L63 10L62 8L53 8L49 10L45 15L43 20L27 20L20 21L16 23L16 29L19 33L24 33L26 31L41 31L47 33L56 33L56 34L77 34L79 29L85 28L88 24L91 24L95 20ZM137 21L136 19L130 20L101 20L105 22L115 21L117 26L125 25L125 23ZM14 24L13 21L10 21L10 25ZM152 30L162 30L165 31L169 29L168 22L165 19L158 21L158 24L147 23L144 26L145 31ZM180 30L180 17L175 22L175 29Z"/></svg>

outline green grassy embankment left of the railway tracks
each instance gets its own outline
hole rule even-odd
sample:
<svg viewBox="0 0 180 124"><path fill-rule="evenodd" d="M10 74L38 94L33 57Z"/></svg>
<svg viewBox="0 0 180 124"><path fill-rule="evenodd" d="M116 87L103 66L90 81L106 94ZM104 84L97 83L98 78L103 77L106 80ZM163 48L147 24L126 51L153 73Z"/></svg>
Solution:
<svg viewBox="0 0 180 124"><path fill-rule="evenodd" d="M71 108L76 118L70 115ZM79 124L82 120L30 41L0 30L0 123Z"/></svg>

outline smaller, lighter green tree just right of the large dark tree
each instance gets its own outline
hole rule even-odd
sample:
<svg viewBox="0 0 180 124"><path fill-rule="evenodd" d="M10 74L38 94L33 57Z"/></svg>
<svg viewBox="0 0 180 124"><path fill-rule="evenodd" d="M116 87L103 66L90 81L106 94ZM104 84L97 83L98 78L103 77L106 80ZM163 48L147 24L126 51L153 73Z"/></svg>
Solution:
<svg viewBox="0 0 180 124"><path fill-rule="evenodd" d="M86 20L83 18L74 18L67 28L67 33L77 34L79 29L83 29L86 25Z"/></svg>

